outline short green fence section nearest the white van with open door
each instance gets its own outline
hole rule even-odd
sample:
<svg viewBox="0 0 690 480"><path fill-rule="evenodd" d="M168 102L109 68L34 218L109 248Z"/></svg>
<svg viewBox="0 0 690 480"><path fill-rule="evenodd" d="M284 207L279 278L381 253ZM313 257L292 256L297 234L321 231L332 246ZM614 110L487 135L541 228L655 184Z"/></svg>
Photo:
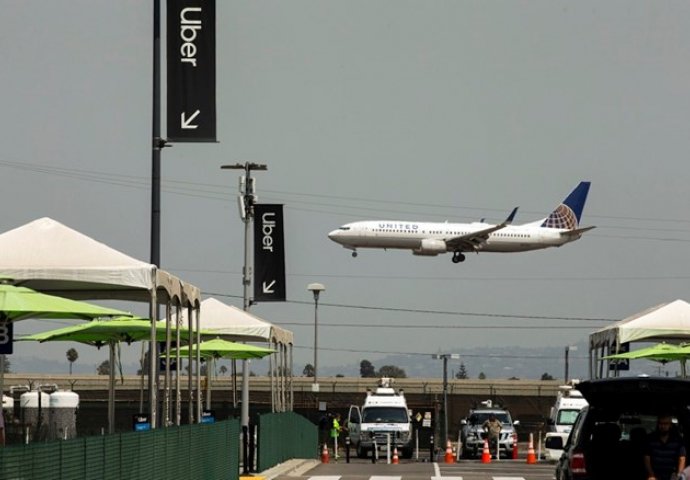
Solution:
<svg viewBox="0 0 690 480"><path fill-rule="evenodd" d="M317 458L316 425L294 412L259 416L257 469L262 472L291 458Z"/></svg>

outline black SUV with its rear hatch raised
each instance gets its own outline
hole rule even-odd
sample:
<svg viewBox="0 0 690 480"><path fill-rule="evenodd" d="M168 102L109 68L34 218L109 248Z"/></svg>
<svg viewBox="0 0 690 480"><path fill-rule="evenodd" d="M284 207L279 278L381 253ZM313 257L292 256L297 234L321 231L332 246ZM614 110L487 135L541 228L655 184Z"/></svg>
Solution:
<svg viewBox="0 0 690 480"><path fill-rule="evenodd" d="M578 415L565 445L561 437L546 443L546 448L564 450L557 480L646 479L645 437L660 414L671 414L674 428L690 441L688 380L623 377L585 381L575 388L589 406Z"/></svg>

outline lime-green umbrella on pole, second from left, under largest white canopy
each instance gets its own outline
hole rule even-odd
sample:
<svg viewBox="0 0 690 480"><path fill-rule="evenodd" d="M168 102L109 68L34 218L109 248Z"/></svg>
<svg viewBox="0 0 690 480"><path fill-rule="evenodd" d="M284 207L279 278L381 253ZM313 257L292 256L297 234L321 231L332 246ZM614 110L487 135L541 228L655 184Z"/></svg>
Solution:
<svg viewBox="0 0 690 480"><path fill-rule="evenodd" d="M174 329L174 327L173 327ZM186 327L180 333L188 333ZM22 341L54 342L71 341L95 347L108 345L110 350L110 377L108 386L108 433L115 432L115 347L120 342L146 341L151 338L151 320L140 317L94 320L92 322L58 328L19 338ZM156 338L166 338L165 322L156 322ZM177 358L179 362L179 357Z"/></svg>

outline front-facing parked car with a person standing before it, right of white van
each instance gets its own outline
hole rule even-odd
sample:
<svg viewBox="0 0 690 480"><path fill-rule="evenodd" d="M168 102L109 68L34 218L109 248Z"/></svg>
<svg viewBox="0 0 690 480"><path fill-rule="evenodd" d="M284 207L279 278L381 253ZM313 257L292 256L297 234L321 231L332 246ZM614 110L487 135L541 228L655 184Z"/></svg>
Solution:
<svg viewBox="0 0 690 480"><path fill-rule="evenodd" d="M482 454L484 447L484 422L489 419L489 415L494 414L501 421L501 436L498 444L500 454L506 458L513 450L515 427L520 423L513 421L510 412L503 408L481 407L470 410L467 418L460 421L460 441L462 442L462 455L465 458L473 458ZM491 454L495 455L492 451Z"/></svg>

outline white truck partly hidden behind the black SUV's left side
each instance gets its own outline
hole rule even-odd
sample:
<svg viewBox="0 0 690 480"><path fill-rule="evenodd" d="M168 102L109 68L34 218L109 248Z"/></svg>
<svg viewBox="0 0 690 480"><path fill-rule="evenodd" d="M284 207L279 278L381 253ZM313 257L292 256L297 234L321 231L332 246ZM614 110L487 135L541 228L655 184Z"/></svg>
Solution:
<svg viewBox="0 0 690 480"><path fill-rule="evenodd" d="M563 450L550 448L551 442L549 442L549 439L561 437L563 439L562 444L565 445L577 415L580 413L580 410L587 406L587 400L582 397L582 393L574 388L577 382L577 380L572 380L568 385L558 387L556 402L551 407L549 418L546 421L549 430L544 437L544 456L546 460L555 462L561 458Z"/></svg>

